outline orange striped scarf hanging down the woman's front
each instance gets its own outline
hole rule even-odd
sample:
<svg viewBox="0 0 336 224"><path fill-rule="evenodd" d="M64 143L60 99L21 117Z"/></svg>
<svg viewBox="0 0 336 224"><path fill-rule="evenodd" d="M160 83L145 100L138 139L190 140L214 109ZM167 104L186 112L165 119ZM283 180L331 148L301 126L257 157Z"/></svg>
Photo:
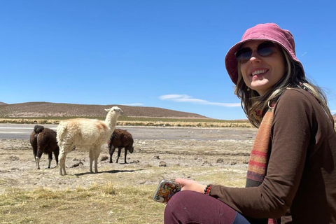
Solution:
<svg viewBox="0 0 336 224"><path fill-rule="evenodd" d="M248 161L246 188L260 186L265 179L271 144L271 128L274 116L274 104L262 118L259 130L252 146L251 157ZM249 220L251 223L267 223L267 219ZM269 218L268 224L276 224L275 218Z"/></svg>

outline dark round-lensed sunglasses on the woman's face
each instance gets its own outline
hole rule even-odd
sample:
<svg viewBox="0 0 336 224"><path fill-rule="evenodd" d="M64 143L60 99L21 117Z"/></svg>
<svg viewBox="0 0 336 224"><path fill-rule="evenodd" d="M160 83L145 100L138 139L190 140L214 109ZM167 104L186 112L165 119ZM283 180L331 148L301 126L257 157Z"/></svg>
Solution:
<svg viewBox="0 0 336 224"><path fill-rule="evenodd" d="M257 47L258 55L261 57L272 56L275 51L275 44L272 42L260 43ZM237 62L244 64L251 58L253 50L251 48L241 48L235 53Z"/></svg>

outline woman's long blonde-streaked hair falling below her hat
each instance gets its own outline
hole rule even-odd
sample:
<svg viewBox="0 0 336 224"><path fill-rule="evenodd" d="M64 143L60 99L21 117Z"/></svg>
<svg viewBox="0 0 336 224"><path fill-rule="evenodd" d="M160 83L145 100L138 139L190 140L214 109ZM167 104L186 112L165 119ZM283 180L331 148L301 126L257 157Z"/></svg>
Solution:
<svg viewBox="0 0 336 224"><path fill-rule="evenodd" d="M259 127L270 102L276 101L281 94L289 88L301 88L310 92L318 100L330 122L335 127L334 119L328 107L327 97L323 90L317 85L310 83L305 77L300 64L291 59L286 50L283 50L283 48L281 48L281 50L283 57L286 59L287 72L272 89L268 90L268 92L262 96L260 96L257 91L250 90L244 83L241 76L240 64L238 63L238 80L235 87L235 94L241 99L241 108L248 120L253 126Z"/></svg>

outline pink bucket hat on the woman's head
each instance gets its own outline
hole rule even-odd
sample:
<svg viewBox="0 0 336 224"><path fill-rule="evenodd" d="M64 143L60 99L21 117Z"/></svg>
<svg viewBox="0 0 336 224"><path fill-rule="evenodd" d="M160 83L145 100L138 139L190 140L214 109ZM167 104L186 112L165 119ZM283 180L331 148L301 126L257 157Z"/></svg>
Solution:
<svg viewBox="0 0 336 224"><path fill-rule="evenodd" d="M247 41L272 41L273 43L279 44L283 49L285 49L290 57L300 64L302 71L304 72L303 66L299 59L295 56L295 43L293 35L290 31L286 29L281 29L275 23L265 23L259 24L255 27L247 29L244 35L241 37L241 41L233 45L225 56L225 66L228 74L235 85L238 81L237 72L237 60L235 53L241 47L242 43Z"/></svg>

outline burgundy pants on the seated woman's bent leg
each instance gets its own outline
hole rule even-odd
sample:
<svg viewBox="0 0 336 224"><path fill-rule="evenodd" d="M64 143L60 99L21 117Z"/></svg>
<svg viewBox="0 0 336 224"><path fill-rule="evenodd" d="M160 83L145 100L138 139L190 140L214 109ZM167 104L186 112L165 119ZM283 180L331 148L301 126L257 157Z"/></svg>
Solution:
<svg viewBox="0 0 336 224"><path fill-rule="evenodd" d="M183 190L167 203L165 224L250 224L237 211L209 195Z"/></svg>

